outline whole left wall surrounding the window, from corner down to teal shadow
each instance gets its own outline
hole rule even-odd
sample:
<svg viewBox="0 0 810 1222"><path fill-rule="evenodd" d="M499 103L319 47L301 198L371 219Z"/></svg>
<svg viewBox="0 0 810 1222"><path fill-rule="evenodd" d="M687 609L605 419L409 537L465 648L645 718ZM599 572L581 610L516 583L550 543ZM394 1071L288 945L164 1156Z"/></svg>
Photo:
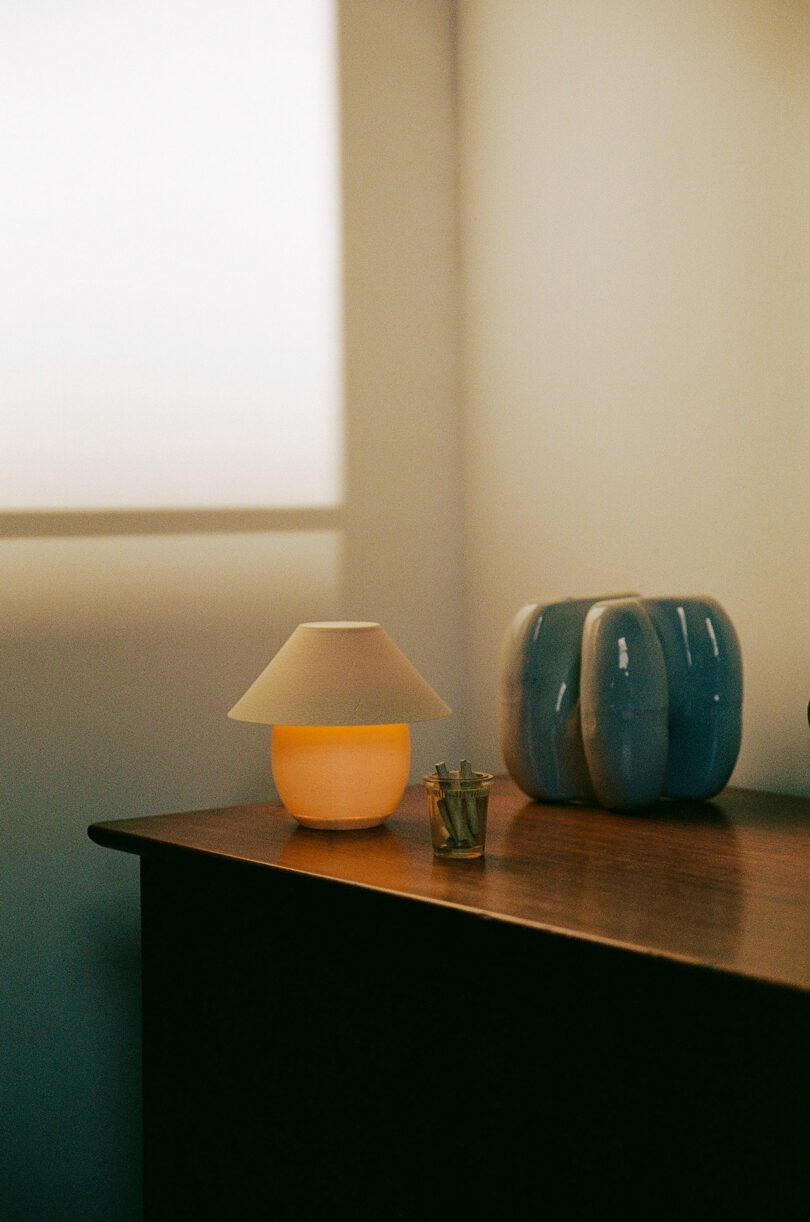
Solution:
<svg viewBox="0 0 810 1222"><path fill-rule="evenodd" d="M88 824L270 796L266 727L226 712L302 620L379 618L463 710L451 17L340 10L345 503L0 519L4 1217L139 1216L138 865ZM413 727L414 780L461 719Z"/></svg>

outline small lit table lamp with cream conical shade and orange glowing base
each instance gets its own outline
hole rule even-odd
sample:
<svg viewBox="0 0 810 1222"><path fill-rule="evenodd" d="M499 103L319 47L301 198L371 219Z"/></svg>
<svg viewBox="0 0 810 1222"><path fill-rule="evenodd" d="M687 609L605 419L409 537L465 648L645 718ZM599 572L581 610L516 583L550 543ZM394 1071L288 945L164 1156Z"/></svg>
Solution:
<svg viewBox="0 0 810 1222"><path fill-rule="evenodd" d="M302 623L228 717L272 726L272 776L305 827L375 827L408 783L408 722L452 712L379 623Z"/></svg>

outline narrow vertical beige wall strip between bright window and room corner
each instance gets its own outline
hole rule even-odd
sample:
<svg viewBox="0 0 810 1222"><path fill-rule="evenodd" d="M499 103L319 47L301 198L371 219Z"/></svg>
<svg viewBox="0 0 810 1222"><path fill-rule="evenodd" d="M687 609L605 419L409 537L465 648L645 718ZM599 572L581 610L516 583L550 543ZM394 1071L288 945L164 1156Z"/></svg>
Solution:
<svg viewBox="0 0 810 1222"><path fill-rule="evenodd" d="M454 710L412 727L414 780L464 744L453 10L340 5L343 605L384 623Z"/></svg>

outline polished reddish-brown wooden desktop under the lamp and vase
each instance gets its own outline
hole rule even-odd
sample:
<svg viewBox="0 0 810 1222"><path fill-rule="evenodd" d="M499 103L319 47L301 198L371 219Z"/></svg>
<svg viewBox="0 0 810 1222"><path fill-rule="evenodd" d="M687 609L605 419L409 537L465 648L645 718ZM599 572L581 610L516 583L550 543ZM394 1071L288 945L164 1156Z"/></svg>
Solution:
<svg viewBox="0 0 810 1222"><path fill-rule="evenodd" d="M293 870L810 990L810 799L724 789L613 814L498 778L486 855L432 855L421 786L368 831L299 827L280 803L94 824L128 853Z"/></svg>

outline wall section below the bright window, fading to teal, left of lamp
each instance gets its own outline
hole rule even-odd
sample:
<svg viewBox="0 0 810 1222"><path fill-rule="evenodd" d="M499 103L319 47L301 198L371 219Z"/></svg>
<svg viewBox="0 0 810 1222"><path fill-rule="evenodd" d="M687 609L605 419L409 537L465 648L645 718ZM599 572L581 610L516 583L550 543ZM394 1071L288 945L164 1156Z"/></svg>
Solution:
<svg viewBox="0 0 810 1222"><path fill-rule="evenodd" d="M341 536L0 541L4 1222L140 1217L139 898L103 819L266 798L226 714L336 613Z"/></svg>

